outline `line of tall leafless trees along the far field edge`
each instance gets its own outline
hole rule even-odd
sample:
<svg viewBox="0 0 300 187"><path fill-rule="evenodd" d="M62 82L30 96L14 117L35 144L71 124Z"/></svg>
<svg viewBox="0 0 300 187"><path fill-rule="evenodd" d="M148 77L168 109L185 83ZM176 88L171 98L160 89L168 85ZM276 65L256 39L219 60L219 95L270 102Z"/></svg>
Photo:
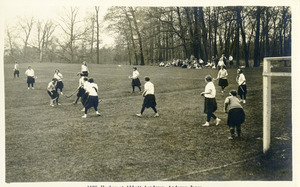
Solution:
<svg viewBox="0 0 300 187"><path fill-rule="evenodd" d="M114 6L102 22L99 7L87 9L84 18L69 7L56 21L31 17L7 26L5 59L154 65L224 54L249 67L249 61L259 66L263 57L291 55L290 7ZM114 33L114 47L100 48L104 29Z"/></svg>

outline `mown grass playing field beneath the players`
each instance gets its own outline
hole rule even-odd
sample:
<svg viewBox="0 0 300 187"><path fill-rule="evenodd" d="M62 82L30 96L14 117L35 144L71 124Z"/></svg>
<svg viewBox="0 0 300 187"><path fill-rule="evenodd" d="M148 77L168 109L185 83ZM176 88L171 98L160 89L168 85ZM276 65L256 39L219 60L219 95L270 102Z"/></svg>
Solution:
<svg viewBox="0 0 300 187"><path fill-rule="evenodd" d="M6 182L50 181L290 181L292 180L291 79L272 79L270 154L262 154L262 69L245 69L247 103L242 138L230 141L217 86L219 126L202 127L204 76L217 71L138 66L141 77L155 85L159 118L148 109L139 113L143 97L131 93L132 67L90 64L99 86L99 111L82 119L75 96L61 96L51 107L46 92L54 70L64 76L64 93L78 86L79 64L31 64L38 78L27 90L25 70L13 78L5 64ZM285 71L285 69L283 69ZM236 89L236 69L228 69L229 87ZM143 78L141 78L144 84Z"/></svg>

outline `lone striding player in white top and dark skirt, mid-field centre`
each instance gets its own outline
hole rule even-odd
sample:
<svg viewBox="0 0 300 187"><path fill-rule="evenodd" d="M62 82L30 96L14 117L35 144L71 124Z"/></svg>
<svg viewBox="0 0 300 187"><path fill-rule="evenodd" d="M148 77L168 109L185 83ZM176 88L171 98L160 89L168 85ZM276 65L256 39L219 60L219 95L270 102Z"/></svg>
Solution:
<svg viewBox="0 0 300 187"><path fill-rule="evenodd" d="M149 77L145 77L145 85L144 85L144 92L143 92L143 96L144 96L144 102L142 105L142 109L141 112L139 114L136 114L138 117L141 117L143 112L145 111L146 108L152 108L153 111L155 112L154 117L159 117L159 114L156 110L156 99L155 99L155 95L154 95L154 85L152 82L150 82L150 78Z"/></svg>

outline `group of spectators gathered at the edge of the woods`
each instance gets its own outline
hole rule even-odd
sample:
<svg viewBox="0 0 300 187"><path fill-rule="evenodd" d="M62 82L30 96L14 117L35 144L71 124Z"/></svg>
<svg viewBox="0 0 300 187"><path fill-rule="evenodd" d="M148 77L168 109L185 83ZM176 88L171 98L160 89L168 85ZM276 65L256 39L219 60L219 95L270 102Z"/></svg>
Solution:
<svg viewBox="0 0 300 187"><path fill-rule="evenodd" d="M231 57L232 58L232 57ZM230 60L231 60L230 58ZM230 64L231 65L231 64ZM226 57L222 54L221 58L212 56L211 60L204 62L201 58L198 60L194 56L191 56L190 59L174 59L173 61L160 62L159 67L181 67L187 69L202 69L202 68L212 68L219 69L220 66L227 66Z"/></svg>

